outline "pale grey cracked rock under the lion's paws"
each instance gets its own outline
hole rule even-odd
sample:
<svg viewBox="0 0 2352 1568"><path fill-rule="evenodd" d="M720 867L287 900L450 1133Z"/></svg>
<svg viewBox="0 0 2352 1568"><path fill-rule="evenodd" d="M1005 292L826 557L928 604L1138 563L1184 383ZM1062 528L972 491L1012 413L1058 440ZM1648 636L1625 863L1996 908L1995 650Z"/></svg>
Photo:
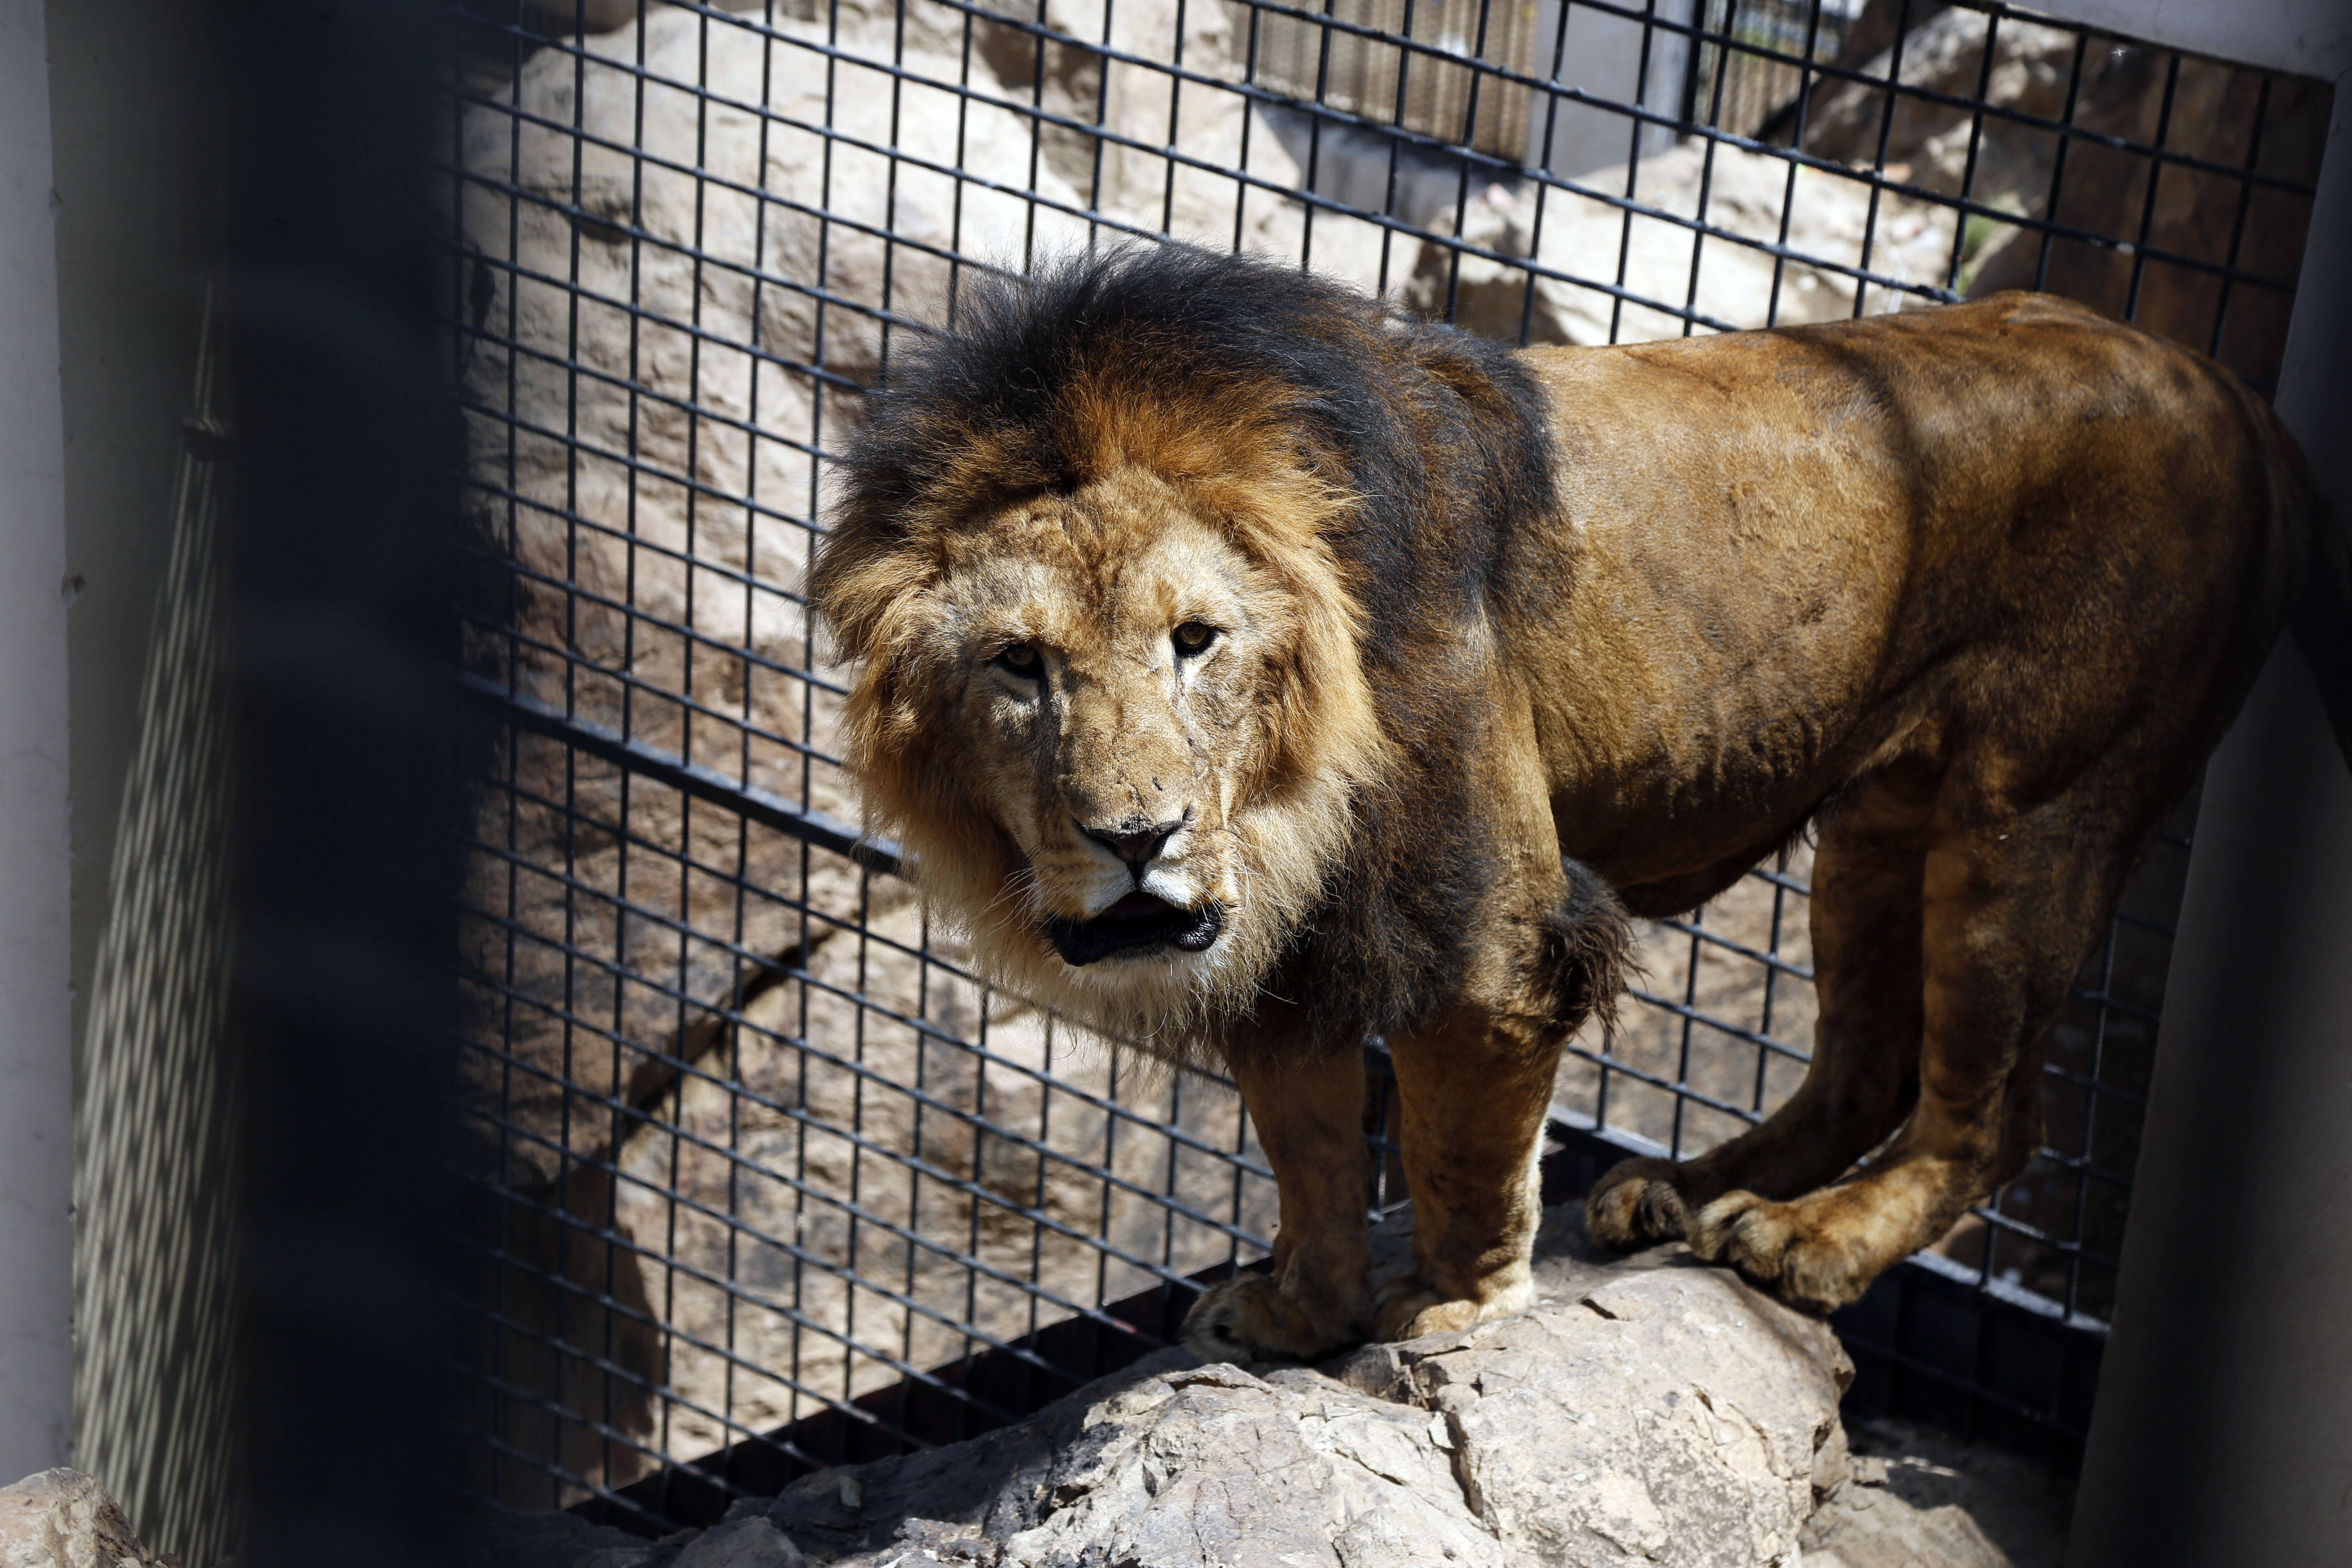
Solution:
<svg viewBox="0 0 2352 1568"><path fill-rule="evenodd" d="M1399 1246L1390 1229L1383 1251ZM969 1443L739 1502L699 1537L590 1540L567 1521L560 1552L506 1537L499 1561L2009 1568L2006 1544L2056 1568L2046 1483L1903 1427L1849 1453L1846 1378L1823 1324L1682 1248L1604 1258L1562 1206L1519 1316L1312 1368L1169 1349Z"/></svg>

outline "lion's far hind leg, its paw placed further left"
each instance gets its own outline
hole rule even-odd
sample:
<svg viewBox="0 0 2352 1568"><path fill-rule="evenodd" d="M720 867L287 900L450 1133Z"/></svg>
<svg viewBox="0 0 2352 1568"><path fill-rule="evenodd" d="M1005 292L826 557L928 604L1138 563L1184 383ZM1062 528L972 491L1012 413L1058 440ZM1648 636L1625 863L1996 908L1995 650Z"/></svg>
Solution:
<svg viewBox="0 0 2352 1568"><path fill-rule="evenodd" d="M1872 773L1820 823L1811 903L1820 1016L1797 1093L1696 1159L1613 1166L1585 1199L1595 1239L1684 1239L1722 1194L1811 1192L1896 1131L1919 1091L1919 903L1933 790L1926 769Z"/></svg>

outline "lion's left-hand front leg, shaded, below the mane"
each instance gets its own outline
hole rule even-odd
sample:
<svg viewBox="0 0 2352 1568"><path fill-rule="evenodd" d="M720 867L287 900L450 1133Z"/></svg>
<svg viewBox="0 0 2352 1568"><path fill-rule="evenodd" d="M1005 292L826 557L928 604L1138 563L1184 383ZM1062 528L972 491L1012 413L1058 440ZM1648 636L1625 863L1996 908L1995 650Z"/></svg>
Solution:
<svg viewBox="0 0 2352 1568"><path fill-rule="evenodd" d="M1204 1361L1237 1363L1355 1345L1371 1326L1364 1058L1242 1060L1232 1077L1275 1168L1275 1267L1211 1286L1185 1314L1183 1342Z"/></svg>

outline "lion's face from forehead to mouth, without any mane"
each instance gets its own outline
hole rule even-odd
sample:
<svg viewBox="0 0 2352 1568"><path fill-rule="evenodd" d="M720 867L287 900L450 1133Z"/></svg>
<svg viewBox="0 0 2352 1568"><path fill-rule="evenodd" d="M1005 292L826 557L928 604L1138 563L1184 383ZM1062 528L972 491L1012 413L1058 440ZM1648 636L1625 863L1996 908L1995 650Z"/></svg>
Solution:
<svg viewBox="0 0 2352 1568"><path fill-rule="evenodd" d="M1120 480L1018 508L941 592L974 783L1073 966L1216 945L1242 898L1232 804L1261 771L1282 616L1164 487Z"/></svg>

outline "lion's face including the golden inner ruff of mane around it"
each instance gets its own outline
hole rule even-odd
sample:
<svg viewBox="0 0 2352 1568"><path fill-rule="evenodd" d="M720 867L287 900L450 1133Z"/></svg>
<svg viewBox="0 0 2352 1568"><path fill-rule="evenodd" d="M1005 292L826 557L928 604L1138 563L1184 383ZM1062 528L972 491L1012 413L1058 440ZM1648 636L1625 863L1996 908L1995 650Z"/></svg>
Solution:
<svg viewBox="0 0 2352 1568"><path fill-rule="evenodd" d="M1247 1004L1376 750L1319 552L1218 501L1120 465L943 531L851 696L934 903L1115 1032Z"/></svg>

